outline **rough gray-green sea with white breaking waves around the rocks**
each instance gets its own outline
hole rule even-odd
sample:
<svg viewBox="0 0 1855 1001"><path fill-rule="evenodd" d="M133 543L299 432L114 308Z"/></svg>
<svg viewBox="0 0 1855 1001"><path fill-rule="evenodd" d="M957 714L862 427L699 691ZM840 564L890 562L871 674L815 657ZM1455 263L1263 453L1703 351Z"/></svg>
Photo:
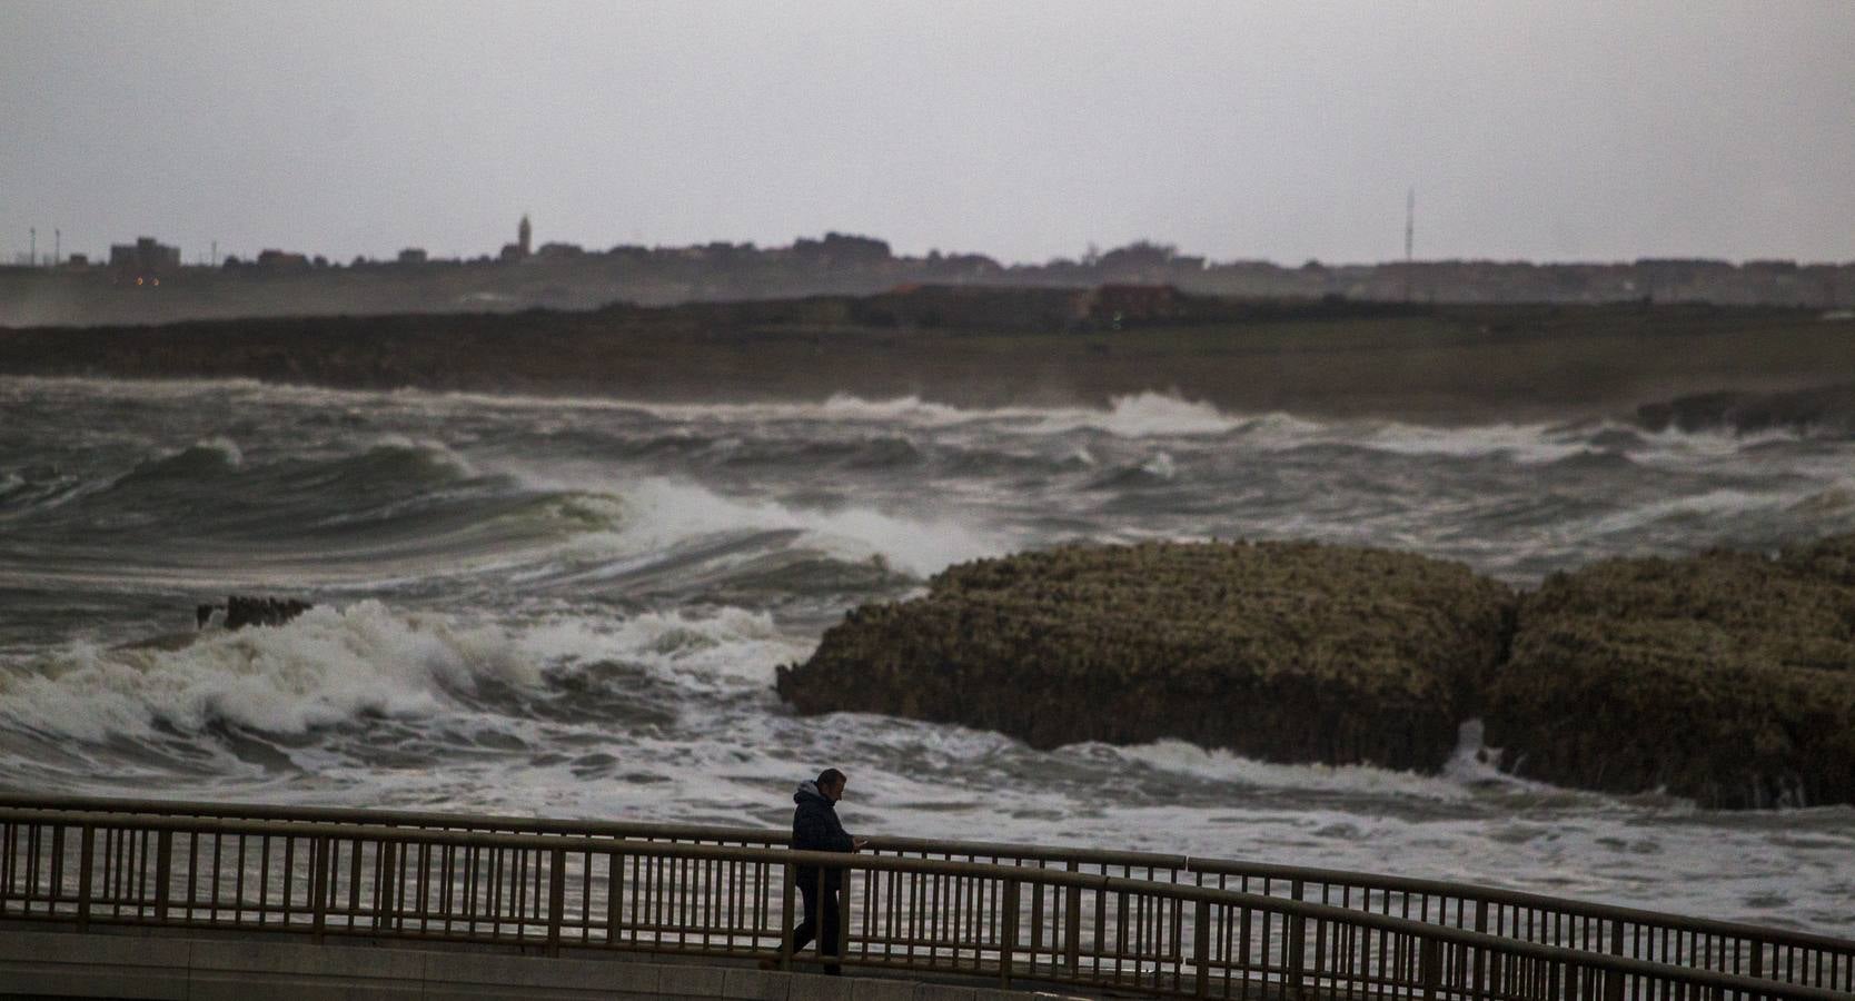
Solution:
<svg viewBox="0 0 1855 1001"><path fill-rule="evenodd" d="M1708 812L1516 780L1031 751L796 717L774 667L859 602L1068 539L1310 538L1514 584L1855 532L1855 437L1428 428L920 402L660 406L252 382L0 380L0 786L783 827L1460 879L1855 936L1855 808ZM226 593L306 597L208 632ZM1113 712L1113 706L1104 706ZM1237 725L1239 721L1234 721Z"/></svg>

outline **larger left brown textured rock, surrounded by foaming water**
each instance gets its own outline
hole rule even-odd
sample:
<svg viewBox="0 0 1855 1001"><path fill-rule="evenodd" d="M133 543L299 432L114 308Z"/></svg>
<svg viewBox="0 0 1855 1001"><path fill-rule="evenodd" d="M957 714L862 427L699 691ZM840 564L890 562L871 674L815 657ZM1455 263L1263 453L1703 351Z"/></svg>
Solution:
<svg viewBox="0 0 1855 1001"><path fill-rule="evenodd" d="M1182 738L1282 762L1438 767L1514 597L1460 564L1313 543L1061 547L950 567L781 667L800 712L1035 747Z"/></svg>

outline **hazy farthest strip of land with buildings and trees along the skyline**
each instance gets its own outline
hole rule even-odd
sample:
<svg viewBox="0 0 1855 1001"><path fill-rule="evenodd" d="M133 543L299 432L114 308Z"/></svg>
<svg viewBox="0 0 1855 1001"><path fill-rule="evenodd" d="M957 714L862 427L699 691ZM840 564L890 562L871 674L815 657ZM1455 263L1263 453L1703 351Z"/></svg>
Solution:
<svg viewBox="0 0 1855 1001"><path fill-rule="evenodd" d="M516 234L512 234L516 235ZM417 247L393 261L328 261L267 250L256 260L184 265L154 237L111 247L109 261L0 267L0 326L100 326L239 317L510 313L612 302L753 302L881 295L907 285L1087 291L1174 285L1198 297L1445 304L1634 304L1855 308L1855 261L1638 258L1634 261L1406 260L1298 265L1213 261L1130 243L1081 260L1002 263L985 254L896 256L887 241L825 234L788 247L705 243L607 250L523 241L499 258L440 260Z"/></svg>

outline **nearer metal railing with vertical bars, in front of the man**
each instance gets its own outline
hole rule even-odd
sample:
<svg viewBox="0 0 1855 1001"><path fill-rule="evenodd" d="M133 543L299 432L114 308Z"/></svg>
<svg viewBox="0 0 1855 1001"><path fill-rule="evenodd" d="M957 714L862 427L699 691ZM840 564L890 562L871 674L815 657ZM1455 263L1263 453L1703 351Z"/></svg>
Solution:
<svg viewBox="0 0 1855 1001"><path fill-rule="evenodd" d="M250 929L790 964L783 945L796 918L796 866L844 869L838 951L851 968L1196 997L1855 997L1308 899L1037 864L0 806L0 919L80 929Z"/></svg>

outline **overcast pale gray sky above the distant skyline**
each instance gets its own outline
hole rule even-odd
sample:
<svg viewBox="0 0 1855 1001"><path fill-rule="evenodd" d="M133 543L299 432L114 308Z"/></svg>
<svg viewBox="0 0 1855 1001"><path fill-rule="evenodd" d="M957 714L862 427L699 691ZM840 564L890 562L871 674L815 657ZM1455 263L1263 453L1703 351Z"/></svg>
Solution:
<svg viewBox="0 0 1855 1001"><path fill-rule="evenodd" d="M0 0L0 254L1855 260L1855 2Z"/></svg>

